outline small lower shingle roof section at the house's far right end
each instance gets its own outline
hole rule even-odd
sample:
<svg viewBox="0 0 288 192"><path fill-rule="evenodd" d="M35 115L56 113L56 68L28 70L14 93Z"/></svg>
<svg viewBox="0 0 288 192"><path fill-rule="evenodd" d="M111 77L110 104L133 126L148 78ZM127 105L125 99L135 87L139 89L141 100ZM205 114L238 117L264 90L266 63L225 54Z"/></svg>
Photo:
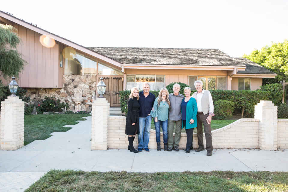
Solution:
<svg viewBox="0 0 288 192"><path fill-rule="evenodd" d="M276 74L247 58L236 57L234 60L246 65L246 69L244 71L238 71L237 74Z"/></svg>

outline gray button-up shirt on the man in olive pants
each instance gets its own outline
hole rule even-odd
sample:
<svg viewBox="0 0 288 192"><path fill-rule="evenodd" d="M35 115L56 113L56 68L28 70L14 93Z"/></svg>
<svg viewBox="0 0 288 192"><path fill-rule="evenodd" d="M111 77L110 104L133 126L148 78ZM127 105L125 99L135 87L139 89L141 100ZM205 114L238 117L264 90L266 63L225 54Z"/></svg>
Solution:
<svg viewBox="0 0 288 192"><path fill-rule="evenodd" d="M169 94L170 101L170 110L169 110L169 119L173 121L179 121L182 119L181 115L181 103L184 98L184 95L174 95L174 93Z"/></svg>

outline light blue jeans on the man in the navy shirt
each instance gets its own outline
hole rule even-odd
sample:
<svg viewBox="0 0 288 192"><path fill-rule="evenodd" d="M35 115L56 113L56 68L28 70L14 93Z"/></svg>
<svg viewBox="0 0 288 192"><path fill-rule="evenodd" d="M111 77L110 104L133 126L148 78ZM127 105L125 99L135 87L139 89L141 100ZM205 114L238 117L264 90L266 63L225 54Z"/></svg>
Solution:
<svg viewBox="0 0 288 192"><path fill-rule="evenodd" d="M147 117L139 117L138 148L148 148L151 121L150 115Z"/></svg>

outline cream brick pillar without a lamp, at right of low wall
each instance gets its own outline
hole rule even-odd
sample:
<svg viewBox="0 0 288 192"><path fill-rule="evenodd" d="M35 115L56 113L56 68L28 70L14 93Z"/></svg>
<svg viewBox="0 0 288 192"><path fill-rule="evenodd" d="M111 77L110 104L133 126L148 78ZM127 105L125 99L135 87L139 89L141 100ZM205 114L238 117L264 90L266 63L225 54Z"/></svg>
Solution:
<svg viewBox="0 0 288 192"><path fill-rule="evenodd" d="M255 119L259 119L258 144L260 149L277 149L277 106L272 101L255 105Z"/></svg>

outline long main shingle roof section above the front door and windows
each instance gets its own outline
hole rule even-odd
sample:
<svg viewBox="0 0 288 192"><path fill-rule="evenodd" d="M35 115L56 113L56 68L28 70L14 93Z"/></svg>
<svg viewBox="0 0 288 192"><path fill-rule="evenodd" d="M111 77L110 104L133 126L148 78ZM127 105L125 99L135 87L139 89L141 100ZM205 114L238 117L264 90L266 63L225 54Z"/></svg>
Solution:
<svg viewBox="0 0 288 192"><path fill-rule="evenodd" d="M244 66L219 49L88 47L123 64Z"/></svg>

